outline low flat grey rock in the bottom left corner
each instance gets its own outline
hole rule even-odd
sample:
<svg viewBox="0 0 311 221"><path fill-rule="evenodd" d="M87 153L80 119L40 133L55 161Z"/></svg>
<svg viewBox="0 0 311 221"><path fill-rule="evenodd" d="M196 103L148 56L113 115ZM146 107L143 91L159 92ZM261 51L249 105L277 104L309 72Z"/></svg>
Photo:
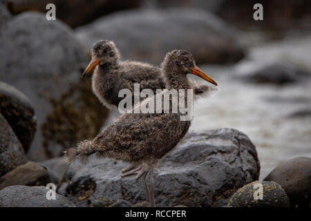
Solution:
<svg viewBox="0 0 311 221"><path fill-rule="evenodd" d="M0 191L1 207L75 207L64 196L56 193L56 200L47 200L45 186L8 186Z"/></svg>

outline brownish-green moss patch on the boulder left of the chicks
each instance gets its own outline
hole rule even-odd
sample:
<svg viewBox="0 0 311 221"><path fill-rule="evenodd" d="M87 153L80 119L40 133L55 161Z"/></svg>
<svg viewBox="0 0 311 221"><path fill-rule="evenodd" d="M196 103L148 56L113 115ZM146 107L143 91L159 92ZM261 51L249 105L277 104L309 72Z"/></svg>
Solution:
<svg viewBox="0 0 311 221"><path fill-rule="evenodd" d="M52 111L41 126L48 157L56 157L49 148L50 143L59 144L65 150L94 138L109 112L93 94L91 79L86 77L72 84L59 99L50 97L48 101Z"/></svg>

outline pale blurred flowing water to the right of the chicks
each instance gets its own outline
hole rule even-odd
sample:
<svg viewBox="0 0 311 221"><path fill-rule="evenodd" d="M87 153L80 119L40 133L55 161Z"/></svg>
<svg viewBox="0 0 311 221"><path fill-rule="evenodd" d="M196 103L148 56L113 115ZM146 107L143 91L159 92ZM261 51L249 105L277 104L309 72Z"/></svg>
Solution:
<svg viewBox="0 0 311 221"><path fill-rule="evenodd" d="M190 130L236 128L252 140L261 162L260 180L282 160L311 157L311 81L285 86L250 84L237 76L278 61L299 64L311 73L311 37L256 46L235 66L201 66L219 84L194 104ZM304 115L293 117L294 113Z"/></svg>

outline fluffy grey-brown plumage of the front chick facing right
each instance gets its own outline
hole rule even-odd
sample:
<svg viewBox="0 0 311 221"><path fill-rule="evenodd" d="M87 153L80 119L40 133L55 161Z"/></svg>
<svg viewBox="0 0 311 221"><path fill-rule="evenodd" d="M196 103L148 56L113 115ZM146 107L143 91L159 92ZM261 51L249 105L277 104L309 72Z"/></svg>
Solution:
<svg viewBox="0 0 311 221"><path fill-rule="evenodd" d="M190 88L187 71L194 66L194 60L189 52L186 55L180 54L181 52L185 51L169 52L162 63L166 88L176 90ZM175 63L182 56L191 59L189 61L191 64L184 68L185 70ZM185 98L187 103L187 96ZM156 98L150 97L144 102L148 99ZM76 154L79 156L96 154L126 162L157 162L180 142L187 133L190 123L181 121L180 113L125 113L93 141L79 144Z"/></svg>

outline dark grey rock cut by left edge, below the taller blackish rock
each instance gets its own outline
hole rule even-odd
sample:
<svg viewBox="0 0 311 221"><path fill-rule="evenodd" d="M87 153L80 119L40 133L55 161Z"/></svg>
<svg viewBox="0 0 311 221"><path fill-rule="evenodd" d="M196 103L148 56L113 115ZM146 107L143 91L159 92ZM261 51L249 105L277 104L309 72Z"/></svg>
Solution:
<svg viewBox="0 0 311 221"><path fill-rule="evenodd" d="M23 146L0 113L0 176L26 162Z"/></svg>

